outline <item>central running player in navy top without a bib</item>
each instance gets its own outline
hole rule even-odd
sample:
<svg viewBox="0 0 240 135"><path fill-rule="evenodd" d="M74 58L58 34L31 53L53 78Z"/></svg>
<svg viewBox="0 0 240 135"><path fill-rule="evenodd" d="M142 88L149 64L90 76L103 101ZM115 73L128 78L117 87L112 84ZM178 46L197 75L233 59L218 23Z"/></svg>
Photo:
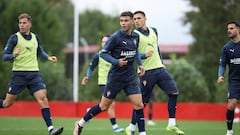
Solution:
<svg viewBox="0 0 240 135"><path fill-rule="evenodd" d="M124 90L136 110L136 121L140 135L146 135L142 95L137 82L134 61L140 74L145 70L138 56L138 35L133 32L133 14L130 11L120 15L121 29L115 32L103 47L100 57L112 63L107 84L99 104L93 106L84 117L75 123L74 135L80 135L86 122L107 110L117 94Z"/></svg>

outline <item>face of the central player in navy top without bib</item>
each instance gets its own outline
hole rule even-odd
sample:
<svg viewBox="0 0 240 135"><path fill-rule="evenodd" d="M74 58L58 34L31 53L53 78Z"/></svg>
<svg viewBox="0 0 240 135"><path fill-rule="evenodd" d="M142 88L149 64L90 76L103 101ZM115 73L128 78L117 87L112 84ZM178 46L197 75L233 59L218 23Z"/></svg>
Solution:
<svg viewBox="0 0 240 135"><path fill-rule="evenodd" d="M132 31L133 19L130 16L120 17L120 26L126 33L130 34Z"/></svg>

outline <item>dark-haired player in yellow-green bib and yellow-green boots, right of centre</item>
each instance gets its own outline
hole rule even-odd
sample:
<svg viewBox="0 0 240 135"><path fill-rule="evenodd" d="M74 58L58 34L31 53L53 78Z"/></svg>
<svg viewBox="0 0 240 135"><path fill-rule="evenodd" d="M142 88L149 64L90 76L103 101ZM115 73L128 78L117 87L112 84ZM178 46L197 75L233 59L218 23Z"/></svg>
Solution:
<svg viewBox="0 0 240 135"><path fill-rule="evenodd" d="M146 105L151 97L152 90L158 85L168 96L169 120L166 130L169 132L183 135L184 132L176 125L176 104L179 94L178 88L172 76L167 72L163 65L161 53L158 47L157 30L146 26L146 16L143 11L134 12L135 32L139 34L138 51L142 58L142 64L146 73L140 76L140 86L143 96L143 103ZM126 128L128 135L135 131L135 110L132 113L132 121Z"/></svg>

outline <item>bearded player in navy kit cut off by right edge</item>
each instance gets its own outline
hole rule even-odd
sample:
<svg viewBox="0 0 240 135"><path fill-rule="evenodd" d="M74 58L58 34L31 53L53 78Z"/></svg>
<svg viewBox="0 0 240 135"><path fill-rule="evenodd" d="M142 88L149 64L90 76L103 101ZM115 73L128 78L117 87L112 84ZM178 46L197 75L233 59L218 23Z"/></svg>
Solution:
<svg viewBox="0 0 240 135"><path fill-rule="evenodd" d="M229 22L227 24L227 34L230 40L222 48L218 68L218 83L223 83L226 65L229 67L228 73L228 103L226 111L227 135L233 135L234 110L240 98L240 24Z"/></svg>

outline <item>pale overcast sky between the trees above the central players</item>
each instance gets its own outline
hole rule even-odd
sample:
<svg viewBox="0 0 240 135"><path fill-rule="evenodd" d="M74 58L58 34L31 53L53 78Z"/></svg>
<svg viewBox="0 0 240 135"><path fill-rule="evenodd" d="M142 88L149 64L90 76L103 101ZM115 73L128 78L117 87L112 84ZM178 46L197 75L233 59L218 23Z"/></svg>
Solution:
<svg viewBox="0 0 240 135"><path fill-rule="evenodd" d="M119 15L122 11L142 10L147 25L158 30L160 44L190 44L190 26L183 26L181 18L191 7L186 0L72 0L77 1L79 12L99 9L103 13ZM80 22L81 23L81 20Z"/></svg>

